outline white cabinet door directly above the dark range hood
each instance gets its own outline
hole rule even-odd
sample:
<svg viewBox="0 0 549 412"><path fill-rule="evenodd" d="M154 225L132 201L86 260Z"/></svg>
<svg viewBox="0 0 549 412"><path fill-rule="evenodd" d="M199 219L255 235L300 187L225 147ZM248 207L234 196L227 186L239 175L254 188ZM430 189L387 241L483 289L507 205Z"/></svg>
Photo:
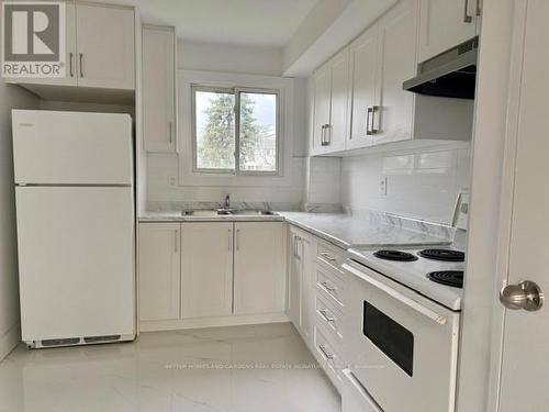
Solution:
<svg viewBox="0 0 549 412"><path fill-rule="evenodd" d="M424 62L474 37L475 4L475 0L421 0L418 60Z"/></svg>

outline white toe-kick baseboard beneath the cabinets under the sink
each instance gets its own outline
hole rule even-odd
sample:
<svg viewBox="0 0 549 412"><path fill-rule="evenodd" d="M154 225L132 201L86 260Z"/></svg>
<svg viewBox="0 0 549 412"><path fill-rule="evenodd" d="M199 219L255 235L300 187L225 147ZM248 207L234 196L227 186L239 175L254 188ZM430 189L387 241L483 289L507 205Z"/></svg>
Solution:
<svg viewBox="0 0 549 412"><path fill-rule="evenodd" d="M178 319L172 321L141 321L139 332L177 331L184 329L239 326L261 323L290 322L285 313L253 314L223 318Z"/></svg>

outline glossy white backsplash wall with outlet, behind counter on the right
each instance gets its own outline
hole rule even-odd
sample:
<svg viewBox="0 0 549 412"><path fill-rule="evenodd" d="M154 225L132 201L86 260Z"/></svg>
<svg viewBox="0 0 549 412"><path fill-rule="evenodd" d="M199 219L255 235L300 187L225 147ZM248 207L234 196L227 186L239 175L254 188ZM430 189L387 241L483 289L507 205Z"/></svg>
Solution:
<svg viewBox="0 0 549 412"><path fill-rule="evenodd" d="M458 191L470 185L470 149L461 144L347 157L340 172L345 208L450 223Z"/></svg>

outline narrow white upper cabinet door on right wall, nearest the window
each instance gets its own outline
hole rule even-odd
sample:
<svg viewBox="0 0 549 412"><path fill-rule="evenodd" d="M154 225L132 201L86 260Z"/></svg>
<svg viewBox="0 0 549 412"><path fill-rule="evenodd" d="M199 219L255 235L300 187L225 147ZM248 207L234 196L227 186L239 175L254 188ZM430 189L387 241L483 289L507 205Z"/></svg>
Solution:
<svg viewBox="0 0 549 412"><path fill-rule="evenodd" d="M325 151L324 142L326 126L329 124L330 93L332 70L328 65L325 65L314 74L314 121L311 145L313 155Z"/></svg>

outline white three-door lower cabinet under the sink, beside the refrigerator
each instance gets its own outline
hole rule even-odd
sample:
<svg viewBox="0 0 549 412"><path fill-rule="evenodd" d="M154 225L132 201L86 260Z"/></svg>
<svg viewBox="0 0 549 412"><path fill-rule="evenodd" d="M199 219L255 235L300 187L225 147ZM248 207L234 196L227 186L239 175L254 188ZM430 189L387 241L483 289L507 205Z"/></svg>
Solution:
<svg viewBox="0 0 549 412"><path fill-rule="evenodd" d="M283 320L284 245L283 222L141 223L142 330Z"/></svg>

